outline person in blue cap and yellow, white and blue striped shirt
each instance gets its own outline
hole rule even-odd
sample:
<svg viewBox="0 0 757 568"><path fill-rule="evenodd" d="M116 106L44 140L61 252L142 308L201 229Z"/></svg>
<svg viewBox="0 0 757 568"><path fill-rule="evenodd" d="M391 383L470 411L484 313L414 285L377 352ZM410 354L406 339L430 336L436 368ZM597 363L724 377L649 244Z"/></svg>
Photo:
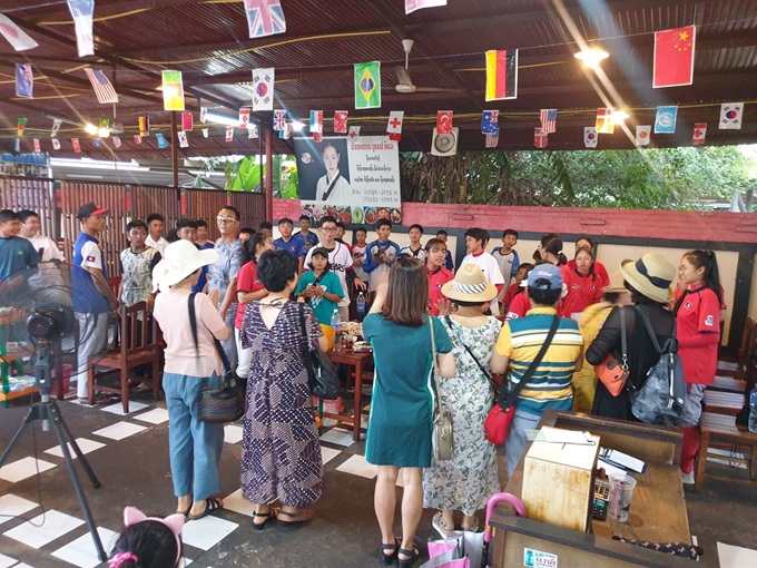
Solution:
<svg viewBox="0 0 757 568"><path fill-rule="evenodd" d="M528 275L525 293L531 310L525 317L504 322L494 346L491 368L493 373L504 373L510 368L510 388L515 386L531 362L537 359L554 317L562 293L562 273L557 266L541 264ZM515 418L510 427L504 447L508 476L518 466L528 438L548 409L570 411L573 407L571 379L583 361L583 339L573 320L561 319L557 333L539 366L523 388L515 403Z"/></svg>

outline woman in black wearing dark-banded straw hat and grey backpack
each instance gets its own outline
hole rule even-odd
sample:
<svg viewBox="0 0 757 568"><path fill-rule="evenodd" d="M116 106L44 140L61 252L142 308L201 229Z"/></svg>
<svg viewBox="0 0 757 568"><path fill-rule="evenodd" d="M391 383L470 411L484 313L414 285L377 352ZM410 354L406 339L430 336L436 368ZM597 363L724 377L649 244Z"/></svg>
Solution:
<svg viewBox="0 0 757 568"><path fill-rule="evenodd" d="M671 284L677 276L676 266L658 253L647 253L638 261L623 261L620 274L625 286L631 292L631 301L651 323L657 341L663 345L672 335L675 317L667 310L672 300ZM638 321L636 310L618 306L610 312L604 325L597 334L586 353L591 365L598 365L610 353L621 361L620 310L625 310L628 344L628 366L630 374L626 389L612 396L599 381L591 413L599 417L638 421L631 412L628 389L641 389L647 373L657 363L659 355L643 322Z"/></svg>

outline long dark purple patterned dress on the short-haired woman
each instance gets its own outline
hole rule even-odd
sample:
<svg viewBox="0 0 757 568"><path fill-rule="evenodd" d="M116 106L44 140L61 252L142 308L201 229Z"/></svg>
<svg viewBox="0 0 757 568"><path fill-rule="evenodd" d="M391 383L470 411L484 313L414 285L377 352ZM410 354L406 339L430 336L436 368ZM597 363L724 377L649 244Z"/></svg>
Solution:
<svg viewBox="0 0 757 568"><path fill-rule="evenodd" d="M296 302L279 310L268 330L250 302L242 330L252 352L242 439L242 491L254 503L276 498L305 508L324 490L321 441L315 428L302 351L304 337ZM318 349L323 331L305 307L309 349Z"/></svg>

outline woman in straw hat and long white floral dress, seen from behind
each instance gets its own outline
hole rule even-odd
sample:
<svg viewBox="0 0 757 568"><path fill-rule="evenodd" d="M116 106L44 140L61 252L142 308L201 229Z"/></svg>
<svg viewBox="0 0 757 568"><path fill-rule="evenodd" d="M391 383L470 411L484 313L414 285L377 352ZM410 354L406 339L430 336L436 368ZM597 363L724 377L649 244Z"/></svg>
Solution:
<svg viewBox="0 0 757 568"><path fill-rule="evenodd" d="M455 528L455 511L463 513L463 530L475 531L475 511L485 508L489 498L500 490L497 451L483 435L483 421L494 403L494 393L481 366L491 374L489 361L502 324L482 315L482 309L497 296L497 288L476 265L463 265L455 278L444 284L442 293L458 304L453 315L440 314L458 365L453 379L439 382L442 401L452 412L454 459L434 460L424 471L423 506L441 509L432 525L445 536Z"/></svg>

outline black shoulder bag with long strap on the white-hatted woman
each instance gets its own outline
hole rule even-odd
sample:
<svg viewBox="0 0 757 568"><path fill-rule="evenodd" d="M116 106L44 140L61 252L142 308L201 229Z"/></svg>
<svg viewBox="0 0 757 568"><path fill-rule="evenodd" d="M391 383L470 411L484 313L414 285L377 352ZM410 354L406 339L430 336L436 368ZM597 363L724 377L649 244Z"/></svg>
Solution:
<svg viewBox="0 0 757 568"><path fill-rule="evenodd" d="M195 294L189 294L189 325L197 350L197 316L195 314ZM214 424L224 424L239 420L245 413L245 386L237 381L220 342L214 339L216 350L224 365L222 386L204 386L195 408L197 419Z"/></svg>

